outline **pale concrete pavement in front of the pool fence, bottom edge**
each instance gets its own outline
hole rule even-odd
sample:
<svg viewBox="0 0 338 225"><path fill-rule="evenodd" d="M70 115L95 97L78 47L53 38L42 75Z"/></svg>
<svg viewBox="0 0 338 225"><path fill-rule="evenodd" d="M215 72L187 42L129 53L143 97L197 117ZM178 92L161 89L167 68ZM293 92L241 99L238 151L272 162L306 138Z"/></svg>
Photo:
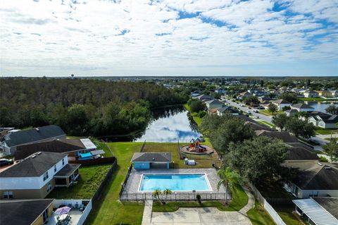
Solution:
<svg viewBox="0 0 338 225"><path fill-rule="evenodd" d="M246 214L223 212L215 207L180 208L176 212L153 212L151 225L251 225Z"/></svg>

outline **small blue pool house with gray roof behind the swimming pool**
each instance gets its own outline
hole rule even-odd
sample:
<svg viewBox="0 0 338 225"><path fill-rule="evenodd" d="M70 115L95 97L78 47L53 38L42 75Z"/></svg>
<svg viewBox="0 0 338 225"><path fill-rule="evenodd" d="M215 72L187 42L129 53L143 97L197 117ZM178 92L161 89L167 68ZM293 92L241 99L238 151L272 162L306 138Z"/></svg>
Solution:
<svg viewBox="0 0 338 225"><path fill-rule="evenodd" d="M134 169L169 169L172 156L170 152L135 152L131 162Z"/></svg>

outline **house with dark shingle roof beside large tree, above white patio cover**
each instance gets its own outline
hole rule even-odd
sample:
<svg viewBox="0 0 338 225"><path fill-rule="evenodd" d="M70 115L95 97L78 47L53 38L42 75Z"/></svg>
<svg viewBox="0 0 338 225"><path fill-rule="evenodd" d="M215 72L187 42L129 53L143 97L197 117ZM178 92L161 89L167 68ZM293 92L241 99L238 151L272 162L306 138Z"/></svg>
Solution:
<svg viewBox="0 0 338 225"><path fill-rule="evenodd" d="M283 166L294 169L296 177L285 188L298 198L338 197L338 166L315 160L285 161Z"/></svg>

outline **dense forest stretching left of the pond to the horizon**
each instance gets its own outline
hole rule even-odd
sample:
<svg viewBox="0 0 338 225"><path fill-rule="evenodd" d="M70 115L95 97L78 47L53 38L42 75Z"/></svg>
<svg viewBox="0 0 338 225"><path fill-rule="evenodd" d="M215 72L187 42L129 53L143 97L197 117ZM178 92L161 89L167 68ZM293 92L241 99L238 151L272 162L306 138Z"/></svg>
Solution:
<svg viewBox="0 0 338 225"><path fill-rule="evenodd" d="M151 109L187 102L187 96L146 82L0 79L0 126L56 124L68 135L108 136L146 128Z"/></svg>

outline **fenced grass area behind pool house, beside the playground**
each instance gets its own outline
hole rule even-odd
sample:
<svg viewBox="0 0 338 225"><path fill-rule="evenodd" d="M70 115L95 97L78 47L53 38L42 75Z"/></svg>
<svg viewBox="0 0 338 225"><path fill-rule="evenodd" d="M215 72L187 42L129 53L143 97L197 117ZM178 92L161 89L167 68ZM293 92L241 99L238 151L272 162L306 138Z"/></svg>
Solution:
<svg viewBox="0 0 338 225"><path fill-rule="evenodd" d="M180 143L181 146L184 143ZM184 164L184 160L180 159L177 150L177 143L152 143L147 142L144 147L144 152L171 152L173 156L173 163L170 164L171 169L180 169L180 168L210 168L212 164L220 165L218 160L218 154L214 152L213 154L203 154L203 155L193 155L187 154L189 159L195 159L196 166L188 166Z"/></svg>

